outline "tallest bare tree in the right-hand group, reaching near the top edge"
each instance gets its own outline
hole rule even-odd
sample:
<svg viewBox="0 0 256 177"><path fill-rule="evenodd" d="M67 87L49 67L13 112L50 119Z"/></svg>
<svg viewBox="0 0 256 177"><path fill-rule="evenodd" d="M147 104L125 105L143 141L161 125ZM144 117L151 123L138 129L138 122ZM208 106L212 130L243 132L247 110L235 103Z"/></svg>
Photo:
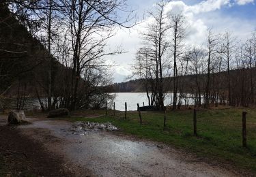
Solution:
<svg viewBox="0 0 256 177"><path fill-rule="evenodd" d="M163 78L166 76L165 57L167 55L167 48L169 47L167 33L170 26L168 24L168 16L165 13L166 5L167 3L165 3L165 1L160 1L160 3L156 4L155 9L149 12L154 20L147 26L147 32L142 34L144 48L147 48L149 54L149 56L147 56L148 59L143 60L147 62L145 68L147 74L145 76L148 79L147 84L151 88L150 90L154 91L154 94L151 96L151 104L155 102L156 107L160 110L164 110L165 107ZM138 59L139 58L137 58L137 61ZM139 59L139 62L141 61L142 60ZM137 67L136 69L135 67L135 70L139 71L140 68ZM149 97L148 95L148 98ZM154 99L155 97L156 99Z"/></svg>

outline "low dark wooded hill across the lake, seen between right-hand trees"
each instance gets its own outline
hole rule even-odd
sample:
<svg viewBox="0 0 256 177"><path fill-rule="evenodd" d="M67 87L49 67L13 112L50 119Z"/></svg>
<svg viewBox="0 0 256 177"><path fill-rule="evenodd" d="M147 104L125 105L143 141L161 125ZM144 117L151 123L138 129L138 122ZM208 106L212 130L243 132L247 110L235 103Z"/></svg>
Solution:
<svg viewBox="0 0 256 177"><path fill-rule="evenodd" d="M256 68L252 68L253 73L256 72ZM250 74L250 69L248 68L243 68L243 69L234 69L230 70L230 77L231 77L231 83L236 83L237 81L244 82L245 76L249 76ZM238 75L240 75L240 79ZM221 73L215 73L212 74L212 78L215 80L214 82L218 82L218 84L215 85L215 88L213 89L212 93L215 93L215 91L218 90L218 101L216 95L211 95L211 105L212 106L218 106L218 104L221 105L227 105L229 106L229 101L227 99L227 72L222 71ZM200 92L203 94L203 87L204 87L204 82L205 82L205 74L199 74L197 77L196 75L186 75L186 76L180 76L178 77L179 80L184 81L184 86L183 86L183 94L179 95L179 102L177 104L177 108L181 108L182 105L188 107L188 100L193 99L193 103L195 103L197 106L203 106L203 100L204 96L201 95L201 97L195 97L196 92ZM163 87L166 88L165 91L168 93L171 93L172 90L172 80L173 78L164 78L163 79ZM248 80L247 80L248 81ZM152 81L156 82L156 81ZM199 83L197 85L197 82ZM256 80L255 80L256 82ZM144 79L137 79L137 80L130 80L127 82L120 82L120 83L115 83L112 84L111 91L115 93L126 93L126 92L132 92L132 93L138 93L138 92L147 92L147 87L145 86L147 83L147 80ZM236 97L233 97L233 103L230 106L244 106L248 107L251 104L251 94L246 95L246 90L250 90L248 88L248 82L244 82L246 84L242 85L239 84L240 87L232 86L231 92L235 93ZM232 84L233 85L233 84ZM237 85L238 86L238 85ZM202 91L201 91L202 89ZM148 93L149 95L151 93ZM152 94L154 95L154 94ZM154 97L150 97L148 99L148 104L149 105L154 105Z"/></svg>

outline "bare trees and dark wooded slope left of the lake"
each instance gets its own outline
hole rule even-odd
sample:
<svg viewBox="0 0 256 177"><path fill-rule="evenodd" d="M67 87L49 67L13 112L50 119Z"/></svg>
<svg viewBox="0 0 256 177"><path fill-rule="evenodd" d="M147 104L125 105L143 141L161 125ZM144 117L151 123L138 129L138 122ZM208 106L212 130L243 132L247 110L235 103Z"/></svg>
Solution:
<svg viewBox="0 0 256 177"><path fill-rule="evenodd" d="M109 67L104 57L120 0L3 0L0 2L0 94L23 109L35 97L42 110L102 108L109 99ZM123 13L123 14L124 14Z"/></svg>

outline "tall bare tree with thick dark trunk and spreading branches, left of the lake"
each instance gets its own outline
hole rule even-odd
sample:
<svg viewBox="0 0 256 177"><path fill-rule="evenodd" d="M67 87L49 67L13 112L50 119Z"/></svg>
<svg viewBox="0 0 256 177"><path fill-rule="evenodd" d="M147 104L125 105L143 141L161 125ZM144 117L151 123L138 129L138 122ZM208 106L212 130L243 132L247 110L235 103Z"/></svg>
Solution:
<svg viewBox="0 0 256 177"><path fill-rule="evenodd" d="M115 51L106 52L106 41L114 35L113 25L115 20L109 20L115 16L115 12L122 1L61 1L66 18L66 25L70 31L72 42L72 110L76 109L79 81L83 70L94 60L101 59L106 55L121 53L119 48ZM100 14L99 14L100 12ZM91 66L90 66L91 67Z"/></svg>

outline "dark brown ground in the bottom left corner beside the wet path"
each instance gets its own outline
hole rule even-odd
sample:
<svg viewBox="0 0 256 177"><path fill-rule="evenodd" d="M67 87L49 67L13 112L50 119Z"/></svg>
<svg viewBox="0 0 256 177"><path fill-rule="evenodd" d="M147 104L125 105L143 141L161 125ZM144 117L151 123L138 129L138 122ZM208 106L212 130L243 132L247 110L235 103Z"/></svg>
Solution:
<svg viewBox="0 0 256 177"><path fill-rule="evenodd" d="M47 131L37 132L43 133L40 141L23 134L17 127L5 126L0 118L0 176L78 176L76 165L48 150L43 143L61 141Z"/></svg>

